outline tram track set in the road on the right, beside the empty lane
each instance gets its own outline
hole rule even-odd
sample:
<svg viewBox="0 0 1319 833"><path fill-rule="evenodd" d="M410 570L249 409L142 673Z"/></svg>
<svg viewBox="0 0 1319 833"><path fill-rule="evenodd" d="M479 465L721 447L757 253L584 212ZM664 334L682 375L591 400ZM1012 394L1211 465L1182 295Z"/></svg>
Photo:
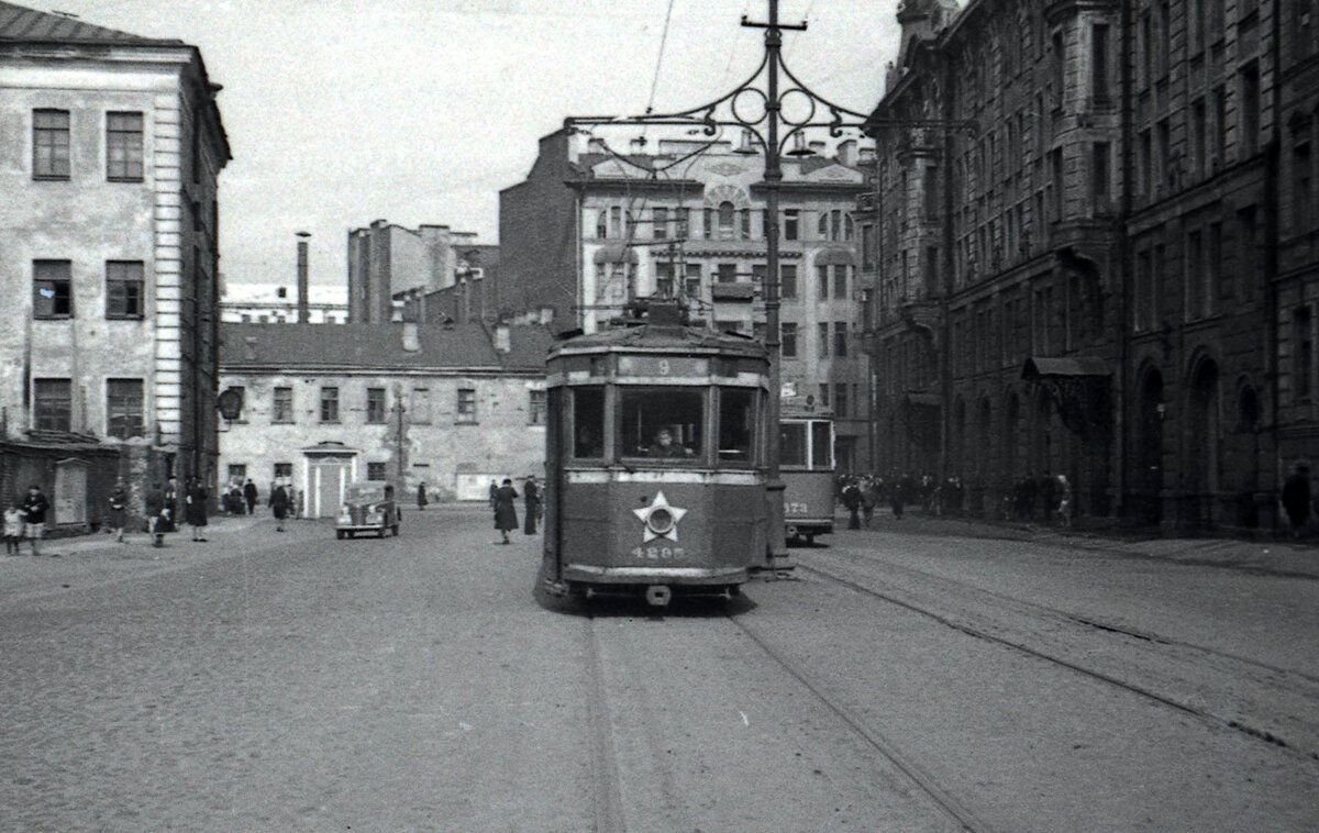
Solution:
<svg viewBox="0 0 1319 833"><path fill-rule="evenodd" d="M1319 761L1319 679L1312 675L1076 616L882 556L830 550L813 552L813 561L798 569Z"/></svg>

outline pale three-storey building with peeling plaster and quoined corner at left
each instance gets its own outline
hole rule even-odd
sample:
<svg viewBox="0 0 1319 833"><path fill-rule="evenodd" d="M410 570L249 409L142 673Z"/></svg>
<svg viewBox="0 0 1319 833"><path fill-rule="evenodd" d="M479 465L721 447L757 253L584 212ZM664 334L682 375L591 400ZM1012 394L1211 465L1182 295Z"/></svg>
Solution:
<svg viewBox="0 0 1319 833"><path fill-rule="evenodd" d="M0 3L11 445L40 432L120 451L135 489L214 468L219 91L182 41Z"/></svg>

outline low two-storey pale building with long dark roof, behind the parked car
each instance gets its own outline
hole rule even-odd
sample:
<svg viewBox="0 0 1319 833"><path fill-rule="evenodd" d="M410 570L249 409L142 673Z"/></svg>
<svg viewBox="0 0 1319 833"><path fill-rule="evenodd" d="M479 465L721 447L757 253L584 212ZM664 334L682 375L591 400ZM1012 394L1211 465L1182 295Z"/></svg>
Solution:
<svg viewBox="0 0 1319 833"><path fill-rule="evenodd" d="M243 413L220 434L220 484L293 482L310 517L353 482L484 500L541 474L543 328L479 324L224 324L222 385Z"/></svg>

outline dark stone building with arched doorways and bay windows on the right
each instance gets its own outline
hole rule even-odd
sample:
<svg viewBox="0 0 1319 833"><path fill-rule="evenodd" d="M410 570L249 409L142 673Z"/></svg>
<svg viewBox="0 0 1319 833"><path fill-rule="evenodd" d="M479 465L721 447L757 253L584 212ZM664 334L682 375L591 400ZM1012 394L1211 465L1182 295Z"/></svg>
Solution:
<svg viewBox="0 0 1319 833"><path fill-rule="evenodd" d="M888 465L981 511L1064 473L1093 515L1272 523L1282 8L904 4L863 219Z"/></svg>

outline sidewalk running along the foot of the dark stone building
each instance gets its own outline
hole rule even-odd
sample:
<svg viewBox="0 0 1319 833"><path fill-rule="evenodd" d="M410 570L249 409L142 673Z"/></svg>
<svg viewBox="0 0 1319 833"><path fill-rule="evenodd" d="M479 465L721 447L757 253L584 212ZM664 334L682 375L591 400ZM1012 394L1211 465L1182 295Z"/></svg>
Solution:
<svg viewBox="0 0 1319 833"><path fill-rule="evenodd" d="M836 518L838 530L847 529L847 513ZM872 530L885 532L934 532L967 538L1022 540L1059 547L1075 547L1116 556L1157 559L1187 565L1221 567L1242 572L1319 580L1319 542L1315 540L1242 540L1240 538L1165 538L1148 531L1064 530L1018 521L983 518L931 517L907 511L896 521L886 511L876 511Z"/></svg>

